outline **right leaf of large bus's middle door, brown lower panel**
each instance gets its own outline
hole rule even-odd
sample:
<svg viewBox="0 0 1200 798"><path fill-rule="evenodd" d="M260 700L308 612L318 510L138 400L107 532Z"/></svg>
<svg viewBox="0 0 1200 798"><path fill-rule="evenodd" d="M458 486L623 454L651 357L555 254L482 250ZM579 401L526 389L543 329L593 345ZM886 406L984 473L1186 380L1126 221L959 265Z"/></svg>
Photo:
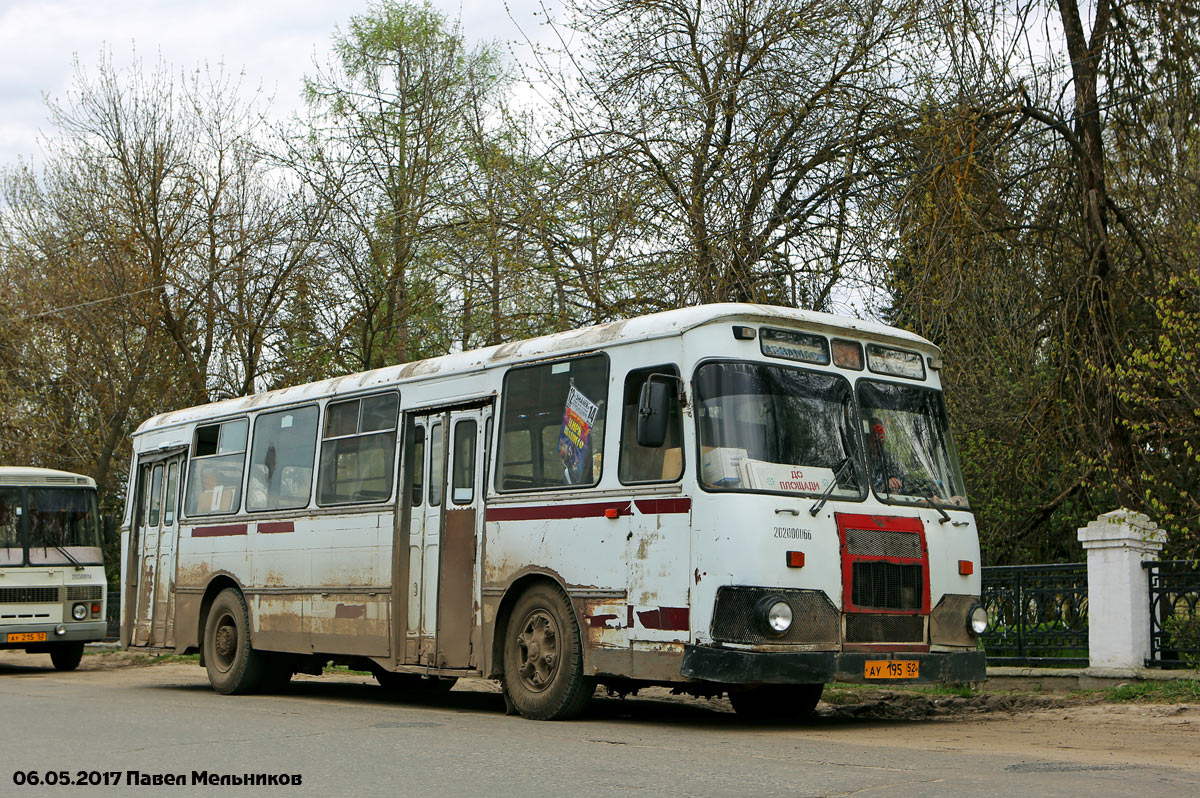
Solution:
<svg viewBox="0 0 1200 798"><path fill-rule="evenodd" d="M480 452L488 416L491 408L450 413L442 558L433 610L438 667L475 665L472 644L479 626L474 605L475 552L484 515Z"/></svg>

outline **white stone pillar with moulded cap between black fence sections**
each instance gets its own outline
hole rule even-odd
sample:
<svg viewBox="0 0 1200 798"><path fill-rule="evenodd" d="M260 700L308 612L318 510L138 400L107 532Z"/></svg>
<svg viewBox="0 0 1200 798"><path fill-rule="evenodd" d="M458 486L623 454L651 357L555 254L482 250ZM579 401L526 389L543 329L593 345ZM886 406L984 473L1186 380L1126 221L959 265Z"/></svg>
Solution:
<svg viewBox="0 0 1200 798"><path fill-rule="evenodd" d="M1150 577L1142 562L1165 535L1133 510L1105 512L1079 530L1087 552L1087 648L1093 676L1130 677L1150 656Z"/></svg>

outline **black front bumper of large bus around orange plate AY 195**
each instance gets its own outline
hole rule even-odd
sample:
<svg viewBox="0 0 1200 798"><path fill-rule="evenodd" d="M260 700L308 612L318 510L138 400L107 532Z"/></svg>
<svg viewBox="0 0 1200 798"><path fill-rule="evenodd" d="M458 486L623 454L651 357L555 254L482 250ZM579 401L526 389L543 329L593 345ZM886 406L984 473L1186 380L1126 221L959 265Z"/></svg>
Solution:
<svg viewBox="0 0 1200 798"><path fill-rule="evenodd" d="M917 678L868 678L868 661L918 665ZM965 684L988 678L983 652L746 652L684 646L682 676L724 684Z"/></svg>

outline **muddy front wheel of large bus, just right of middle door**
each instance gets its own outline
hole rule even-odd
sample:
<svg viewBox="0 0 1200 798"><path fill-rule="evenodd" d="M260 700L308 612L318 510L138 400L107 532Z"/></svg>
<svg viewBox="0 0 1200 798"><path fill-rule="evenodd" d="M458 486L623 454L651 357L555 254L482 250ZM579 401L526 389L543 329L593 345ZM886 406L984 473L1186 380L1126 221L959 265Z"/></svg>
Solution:
<svg viewBox="0 0 1200 798"><path fill-rule="evenodd" d="M552 584L526 590L504 632L504 690L530 720L565 720L587 707L595 680L583 676L583 643L566 595Z"/></svg>

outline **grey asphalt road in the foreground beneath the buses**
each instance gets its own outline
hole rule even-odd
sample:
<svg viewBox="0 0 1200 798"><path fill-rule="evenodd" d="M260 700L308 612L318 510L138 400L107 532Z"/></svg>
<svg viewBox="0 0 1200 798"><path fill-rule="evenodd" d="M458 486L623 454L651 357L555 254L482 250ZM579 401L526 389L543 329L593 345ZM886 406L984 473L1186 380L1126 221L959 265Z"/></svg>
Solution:
<svg viewBox="0 0 1200 798"><path fill-rule="evenodd" d="M996 744L988 736L1000 726L954 719L818 718L780 728L740 724L727 704L660 698L600 698L572 722L527 721L503 709L486 683L419 703L389 700L354 676L227 697L190 664L56 673L48 658L5 659L0 796L1200 794L1200 734L1188 721L1172 733L1190 745L1182 766L1170 766L1123 756L1120 742L1111 756L1103 743L1076 756L1061 744L1061 726L1043 739L1037 724L995 738L1018 743ZM29 772L44 780L59 770L71 779L119 772L121 784L17 784ZM299 774L301 784L131 786L128 770L151 781L182 774L185 782L202 770Z"/></svg>

